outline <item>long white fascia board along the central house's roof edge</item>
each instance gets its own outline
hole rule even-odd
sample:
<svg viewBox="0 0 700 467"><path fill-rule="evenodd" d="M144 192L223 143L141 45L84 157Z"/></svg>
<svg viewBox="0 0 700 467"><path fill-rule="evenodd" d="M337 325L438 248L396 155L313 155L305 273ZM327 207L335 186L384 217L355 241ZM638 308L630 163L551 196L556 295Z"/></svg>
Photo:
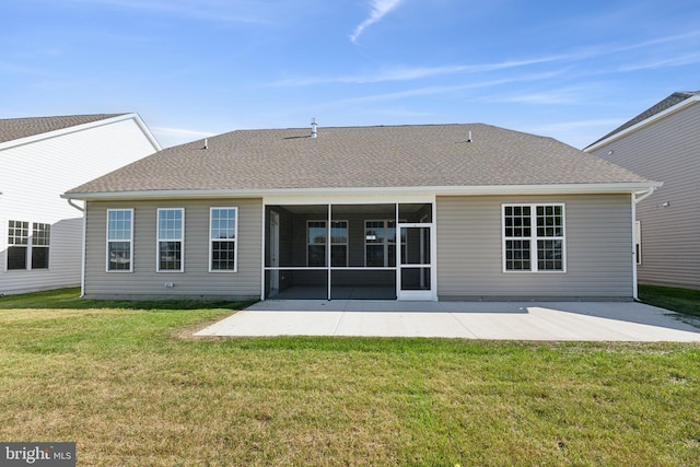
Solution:
<svg viewBox="0 0 700 467"><path fill-rule="evenodd" d="M485 196L485 195L586 195L586 194L640 194L661 182L619 184L564 184L564 185L487 185L446 187L362 187L362 188L281 188L281 189L226 189L226 190L149 190L115 192L67 192L65 199L85 201L118 201L127 199L221 199L276 197L401 197L427 199L431 196Z"/></svg>

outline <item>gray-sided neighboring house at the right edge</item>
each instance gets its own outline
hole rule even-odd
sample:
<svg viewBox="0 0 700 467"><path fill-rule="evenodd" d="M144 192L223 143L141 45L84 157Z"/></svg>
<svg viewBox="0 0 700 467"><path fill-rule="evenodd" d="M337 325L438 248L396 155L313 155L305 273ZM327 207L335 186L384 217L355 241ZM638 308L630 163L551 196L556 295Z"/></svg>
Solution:
<svg viewBox="0 0 700 467"><path fill-rule="evenodd" d="M584 151L664 183L638 208L639 281L700 289L700 91L672 94Z"/></svg>

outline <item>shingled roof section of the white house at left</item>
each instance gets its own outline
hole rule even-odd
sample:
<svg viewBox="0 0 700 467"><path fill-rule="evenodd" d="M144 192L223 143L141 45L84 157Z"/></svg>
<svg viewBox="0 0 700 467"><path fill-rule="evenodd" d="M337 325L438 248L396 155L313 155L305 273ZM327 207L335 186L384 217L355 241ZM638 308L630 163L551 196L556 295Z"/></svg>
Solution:
<svg viewBox="0 0 700 467"><path fill-rule="evenodd" d="M125 114L66 115L57 117L8 118L0 119L0 143L22 138L92 124Z"/></svg>

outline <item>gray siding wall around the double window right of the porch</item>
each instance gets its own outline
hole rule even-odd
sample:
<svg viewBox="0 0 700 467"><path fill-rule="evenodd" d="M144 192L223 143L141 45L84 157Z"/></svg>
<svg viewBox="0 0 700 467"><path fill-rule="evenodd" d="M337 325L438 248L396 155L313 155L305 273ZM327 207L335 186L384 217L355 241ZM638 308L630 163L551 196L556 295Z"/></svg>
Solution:
<svg viewBox="0 0 700 467"><path fill-rule="evenodd" d="M563 203L565 272L504 272L502 203ZM630 195L439 197L440 300L631 300Z"/></svg>

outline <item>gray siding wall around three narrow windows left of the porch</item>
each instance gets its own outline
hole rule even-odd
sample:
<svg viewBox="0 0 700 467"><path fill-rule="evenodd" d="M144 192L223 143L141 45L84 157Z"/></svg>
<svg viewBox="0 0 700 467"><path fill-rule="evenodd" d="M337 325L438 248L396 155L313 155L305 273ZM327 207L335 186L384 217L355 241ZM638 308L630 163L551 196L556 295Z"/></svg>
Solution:
<svg viewBox="0 0 700 467"><path fill-rule="evenodd" d="M209 272L209 212L237 207L237 271ZM185 209L185 271L156 272L159 208ZM133 271L106 272L107 209L133 209ZM88 203L85 295L98 299L259 299L261 199ZM164 284L172 282L173 288Z"/></svg>

